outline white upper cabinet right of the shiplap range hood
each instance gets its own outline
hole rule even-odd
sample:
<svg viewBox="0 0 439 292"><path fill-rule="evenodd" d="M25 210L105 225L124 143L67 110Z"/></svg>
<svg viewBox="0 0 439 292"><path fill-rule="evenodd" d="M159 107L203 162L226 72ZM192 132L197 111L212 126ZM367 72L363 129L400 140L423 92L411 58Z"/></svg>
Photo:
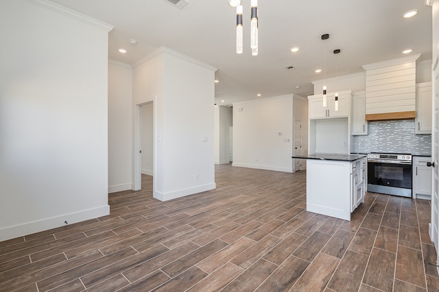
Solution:
<svg viewBox="0 0 439 292"><path fill-rule="evenodd" d="M416 84L416 134L431 134L431 82Z"/></svg>

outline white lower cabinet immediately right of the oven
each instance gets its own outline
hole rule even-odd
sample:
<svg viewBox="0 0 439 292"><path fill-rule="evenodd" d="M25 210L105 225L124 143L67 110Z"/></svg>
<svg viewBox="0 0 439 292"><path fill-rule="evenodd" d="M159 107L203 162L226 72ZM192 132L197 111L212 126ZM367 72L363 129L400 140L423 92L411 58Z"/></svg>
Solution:
<svg viewBox="0 0 439 292"><path fill-rule="evenodd" d="M431 167L427 163L431 157L413 157L413 198L431 200Z"/></svg>

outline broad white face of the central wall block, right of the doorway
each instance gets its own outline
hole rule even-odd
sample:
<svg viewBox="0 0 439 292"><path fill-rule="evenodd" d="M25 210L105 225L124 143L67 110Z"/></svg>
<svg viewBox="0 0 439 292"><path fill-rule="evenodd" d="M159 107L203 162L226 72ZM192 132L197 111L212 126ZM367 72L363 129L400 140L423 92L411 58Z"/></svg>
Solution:
<svg viewBox="0 0 439 292"><path fill-rule="evenodd" d="M164 52L163 189L154 197L169 200L215 189L215 68L176 52ZM154 172L154 174L157 174Z"/></svg>

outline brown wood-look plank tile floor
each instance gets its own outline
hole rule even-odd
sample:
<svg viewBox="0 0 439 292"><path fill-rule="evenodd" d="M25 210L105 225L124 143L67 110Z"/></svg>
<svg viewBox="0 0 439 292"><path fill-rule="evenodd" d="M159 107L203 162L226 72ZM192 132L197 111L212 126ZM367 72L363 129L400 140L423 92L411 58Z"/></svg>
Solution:
<svg viewBox="0 0 439 292"><path fill-rule="evenodd" d="M0 242L0 291L439 291L430 204L305 211L305 172L217 165L217 189L109 195L106 217Z"/></svg>

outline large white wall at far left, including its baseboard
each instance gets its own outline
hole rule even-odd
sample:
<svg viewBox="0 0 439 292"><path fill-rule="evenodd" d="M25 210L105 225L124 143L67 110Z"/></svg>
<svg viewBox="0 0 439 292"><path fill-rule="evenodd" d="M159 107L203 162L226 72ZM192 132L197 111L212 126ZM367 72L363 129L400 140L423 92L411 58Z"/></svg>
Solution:
<svg viewBox="0 0 439 292"><path fill-rule="evenodd" d="M0 4L0 241L109 213L112 27L57 7Z"/></svg>

